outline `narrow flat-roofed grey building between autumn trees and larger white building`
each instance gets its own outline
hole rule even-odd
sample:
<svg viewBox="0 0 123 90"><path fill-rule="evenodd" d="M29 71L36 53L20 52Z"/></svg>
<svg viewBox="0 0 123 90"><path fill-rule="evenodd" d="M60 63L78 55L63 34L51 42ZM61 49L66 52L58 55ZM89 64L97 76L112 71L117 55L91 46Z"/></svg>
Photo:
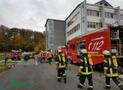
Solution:
<svg viewBox="0 0 123 90"><path fill-rule="evenodd" d="M46 50L55 51L58 46L65 45L65 21L47 19L45 24L46 31Z"/></svg>

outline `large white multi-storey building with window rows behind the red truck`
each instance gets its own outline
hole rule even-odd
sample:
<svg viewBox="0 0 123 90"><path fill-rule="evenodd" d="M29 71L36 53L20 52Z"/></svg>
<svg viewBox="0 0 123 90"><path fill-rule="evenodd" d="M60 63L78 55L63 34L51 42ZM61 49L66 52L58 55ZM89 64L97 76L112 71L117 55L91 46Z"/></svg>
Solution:
<svg viewBox="0 0 123 90"><path fill-rule="evenodd" d="M114 8L107 1L80 3L66 19L66 42L106 25L123 25L123 9Z"/></svg>

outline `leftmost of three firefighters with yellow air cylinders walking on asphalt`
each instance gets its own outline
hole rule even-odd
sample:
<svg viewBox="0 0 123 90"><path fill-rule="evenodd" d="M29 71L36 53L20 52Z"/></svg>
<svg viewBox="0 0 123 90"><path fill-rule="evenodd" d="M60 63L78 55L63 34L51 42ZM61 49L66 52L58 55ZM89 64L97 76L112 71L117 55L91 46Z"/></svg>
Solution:
<svg viewBox="0 0 123 90"><path fill-rule="evenodd" d="M66 68L67 68L67 59L64 53L61 50L58 50L58 54L55 58L56 61L56 69L57 69L57 80L60 82L62 78L64 79L64 83L66 80Z"/></svg>

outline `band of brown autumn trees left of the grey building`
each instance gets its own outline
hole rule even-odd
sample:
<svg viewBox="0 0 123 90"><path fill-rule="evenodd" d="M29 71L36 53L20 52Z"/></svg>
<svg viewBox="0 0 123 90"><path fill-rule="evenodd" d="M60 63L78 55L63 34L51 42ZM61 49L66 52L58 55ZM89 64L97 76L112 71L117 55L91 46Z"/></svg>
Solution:
<svg viewBox="0 0 123 90"><path fill-rule="evenodd" d="M5 33L7 34L5 35ZM30 37L34 36L32 40ZM7 50L3 50L7 48ZM41 32L33 32L29 29L7 28L0 26L0 51L10 51L12 49L22 49L26 51L44 50L45 36Z"/></svg>

